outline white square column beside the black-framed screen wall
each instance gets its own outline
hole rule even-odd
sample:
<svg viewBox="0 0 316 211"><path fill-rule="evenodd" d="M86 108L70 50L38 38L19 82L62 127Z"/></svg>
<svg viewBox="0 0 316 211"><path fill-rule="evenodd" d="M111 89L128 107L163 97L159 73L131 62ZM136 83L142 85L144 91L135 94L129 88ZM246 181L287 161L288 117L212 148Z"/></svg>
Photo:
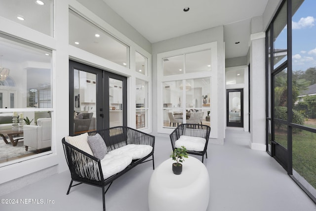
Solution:
<svg viewBox="0 0 316 211"><path fill-rule="evenodd" d="M250 35L250 143L254 150L266 150L265 33Z"/></svg>

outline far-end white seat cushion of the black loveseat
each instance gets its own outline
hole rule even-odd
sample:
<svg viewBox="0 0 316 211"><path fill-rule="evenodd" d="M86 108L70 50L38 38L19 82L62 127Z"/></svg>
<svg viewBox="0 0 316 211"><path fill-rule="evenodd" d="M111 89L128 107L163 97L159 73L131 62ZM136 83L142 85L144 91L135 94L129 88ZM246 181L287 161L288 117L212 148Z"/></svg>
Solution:
<svg viewBox="0 0 316 211"><path fill-rule="evenodd" d="M127 144L126 146L108 152L111 155L128 155L133 160L141 159L150 154L153 151L153 147L150 145L142 144Z"/></svg>

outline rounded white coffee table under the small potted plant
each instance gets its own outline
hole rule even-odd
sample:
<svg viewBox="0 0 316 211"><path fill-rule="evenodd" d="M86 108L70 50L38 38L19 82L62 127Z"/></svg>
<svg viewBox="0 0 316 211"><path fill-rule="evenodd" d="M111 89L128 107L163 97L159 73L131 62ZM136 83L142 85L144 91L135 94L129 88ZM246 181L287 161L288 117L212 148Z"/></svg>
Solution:
<svg viewBox="0 0 316 211"><path fill-rule="evenodd" d="M172 172L170 158L151 176L148 189L150 211L205 211L209 200L209 176L205 166L189 156L182 163L182 173Z"/></svg>

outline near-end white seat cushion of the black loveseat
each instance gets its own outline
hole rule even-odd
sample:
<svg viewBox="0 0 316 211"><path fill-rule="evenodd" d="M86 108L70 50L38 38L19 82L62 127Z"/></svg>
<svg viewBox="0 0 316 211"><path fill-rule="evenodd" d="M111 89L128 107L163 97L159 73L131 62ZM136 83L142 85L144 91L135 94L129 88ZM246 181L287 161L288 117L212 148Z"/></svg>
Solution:
<svg viewBox="0 0 316 211"><path fill-rule="evenodd" d="M101 160L104 179L122 171L132 162L132 157L127 155L106 154Z"/></svg>

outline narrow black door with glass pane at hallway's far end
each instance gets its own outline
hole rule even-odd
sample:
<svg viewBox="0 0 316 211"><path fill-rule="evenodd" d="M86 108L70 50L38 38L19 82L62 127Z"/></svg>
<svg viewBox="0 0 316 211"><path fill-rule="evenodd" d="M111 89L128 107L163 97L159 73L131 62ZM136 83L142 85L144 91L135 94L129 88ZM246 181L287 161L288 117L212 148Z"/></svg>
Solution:
<svg viewBox="0 0 316 211"><path fill-rule="evenodd" d="M243 127L243 89L226 90L227 127Z"/></svg>

